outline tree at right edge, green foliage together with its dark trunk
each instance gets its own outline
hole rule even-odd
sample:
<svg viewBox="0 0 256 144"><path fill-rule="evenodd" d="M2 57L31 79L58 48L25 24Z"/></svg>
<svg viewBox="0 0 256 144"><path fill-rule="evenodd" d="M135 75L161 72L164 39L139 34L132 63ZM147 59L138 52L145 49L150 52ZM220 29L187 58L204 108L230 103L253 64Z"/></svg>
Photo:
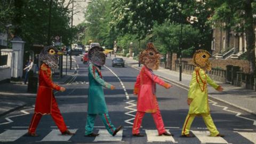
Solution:
<svg viewBox="0 0 256 144"><path fill-rule="evenodd" d="M247 59L250 62L250 73L256 75L255 70L255 33L253 14L256 14L256 2L252 0L227 0L215 2L218 6L211 19L216 26L225 29L234 29L237 32L245 33ZM223 25L218 25L225 23Z"/></svg>

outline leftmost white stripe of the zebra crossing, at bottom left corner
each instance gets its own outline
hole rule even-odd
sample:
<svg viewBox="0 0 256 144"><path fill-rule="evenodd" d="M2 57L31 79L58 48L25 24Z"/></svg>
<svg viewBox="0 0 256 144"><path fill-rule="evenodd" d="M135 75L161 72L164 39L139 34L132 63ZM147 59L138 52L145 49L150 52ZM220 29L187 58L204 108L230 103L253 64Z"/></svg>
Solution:
<svg viewBox="0 0 256 144"><path fill-rule="evenodd" d="M15 141L22 137L28 130L7 130L0 134L0 141L7 142L7 141Z"/></svg>

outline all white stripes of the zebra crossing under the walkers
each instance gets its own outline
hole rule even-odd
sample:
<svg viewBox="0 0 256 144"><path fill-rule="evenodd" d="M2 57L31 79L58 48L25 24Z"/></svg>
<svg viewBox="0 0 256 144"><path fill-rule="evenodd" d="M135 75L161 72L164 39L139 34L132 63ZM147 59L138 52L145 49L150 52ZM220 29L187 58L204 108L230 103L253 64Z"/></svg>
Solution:
<svg viewBox="0 0 256 144"><path fill-rule="evenodd" d="M78 129L70 129L71 132L76 133ZM98 129L98 133L100 134L98 137L93 138L94 140L92 142L123 142L126 141L125 137L129 136L127 135L127 132L130 133L130 129L124 129L117 133L115 137L110 135L106 129ZM124 134L124 131L126 131L126 134ZM168 142L168 143L179 143L179 136L174 137L168 137L168 136L158 136L157 130L147 130L143 129L146 133L146 137L143 137L144 139L147 139L147 142ZM167 130L170 132L170 130ZM238 132L233 131L234 133L238 133L241 137L247 139L248 141L252 143L256 143L256 132ZM0 142L14 142L19 140L23 135L26 135L27 130L5 130L0 134ZM209 137L210 133L209 131L191 131L196 137L196 139L199 140L199 143L229 143L227 140L225 140L226 137ZM46 141L62 141L62 142L70 142L70 140L74 135L61 135L60 131L58 129L52 129L48 134L44 136L40 141L46 142ZM26 139L29 139L30 137L26 137ZM142 139L143 139L142 138ZM186 139L186 138L185 138Z"/></svg>

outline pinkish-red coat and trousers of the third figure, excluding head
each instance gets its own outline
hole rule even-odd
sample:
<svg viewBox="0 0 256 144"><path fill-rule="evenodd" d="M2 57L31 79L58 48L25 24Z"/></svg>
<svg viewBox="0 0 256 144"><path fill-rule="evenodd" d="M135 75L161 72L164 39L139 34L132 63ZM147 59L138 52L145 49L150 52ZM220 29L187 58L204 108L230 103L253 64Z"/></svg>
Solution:
<svg viewBox="0 0 256 144"><path fill-rule="evenodd" d="M154 75L152 70L143 66L134 85L134 94L138 94L138 101L137 114L133 122L132 134L140 133L140 125L145 113L151 113L153 116L158 134L166 132L155 95L156 83L164 87L169 86L169 84Z"/></svg>

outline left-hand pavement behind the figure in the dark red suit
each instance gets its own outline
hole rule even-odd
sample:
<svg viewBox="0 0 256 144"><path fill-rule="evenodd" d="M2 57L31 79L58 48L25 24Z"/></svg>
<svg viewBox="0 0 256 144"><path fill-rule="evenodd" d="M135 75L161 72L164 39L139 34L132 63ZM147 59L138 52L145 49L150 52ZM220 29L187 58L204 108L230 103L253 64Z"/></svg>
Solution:
<svg viewBox="0 0 256 144"><path fill-rule="evenodd" d="M76 62L73 58L73 63ZM59 75L53 76L53 82L59 85L66 84L72 79L72 75L76 69L69 70L66 75L66 59L63 59L63 77ZM75 67L75 66L73 66ZM37 76L37 74L35 74ZM25 107L27 105L33 105L36 98L36 93L29 93L27 91L28 85L23 84L23 79L18 82L11 81L10 83L0 84L0 117L11 113L17 109Z"/></svg>

